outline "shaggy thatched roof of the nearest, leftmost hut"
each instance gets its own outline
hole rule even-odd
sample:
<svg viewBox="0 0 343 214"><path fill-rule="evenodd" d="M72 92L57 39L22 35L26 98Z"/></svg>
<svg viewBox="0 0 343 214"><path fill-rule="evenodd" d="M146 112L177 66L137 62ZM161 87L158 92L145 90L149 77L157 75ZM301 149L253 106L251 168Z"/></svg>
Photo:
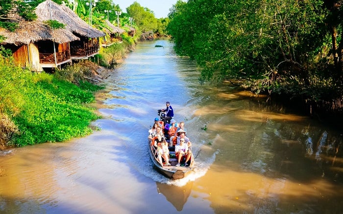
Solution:
<svg viewBox="0 0 343 214"><path fill-rule="evenodd" d="M56 43L67 43L79 40L72 32L66 29L52 29L41 21L20 21L19 28L10 32L0 28L0 35L6 39L2 44L29 44L41 40L51 40Z"/></svg>

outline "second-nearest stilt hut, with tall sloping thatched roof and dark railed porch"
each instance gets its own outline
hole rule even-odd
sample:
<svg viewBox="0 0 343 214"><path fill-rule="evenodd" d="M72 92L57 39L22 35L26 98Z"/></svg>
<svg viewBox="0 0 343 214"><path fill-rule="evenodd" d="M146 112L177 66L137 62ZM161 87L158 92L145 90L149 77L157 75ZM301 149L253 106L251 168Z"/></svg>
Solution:
<svg viewBox="0 0 343 214"><path fill-rule="evenodd" d="M83 21L69 7L49 0L40 3L36 7L38 20L50 20L50 8L52 20L66 24L66 29L79 38L78 41L70 43L72 59L87 59L98 54L99 37L105 36L102 31Z"/></svg>

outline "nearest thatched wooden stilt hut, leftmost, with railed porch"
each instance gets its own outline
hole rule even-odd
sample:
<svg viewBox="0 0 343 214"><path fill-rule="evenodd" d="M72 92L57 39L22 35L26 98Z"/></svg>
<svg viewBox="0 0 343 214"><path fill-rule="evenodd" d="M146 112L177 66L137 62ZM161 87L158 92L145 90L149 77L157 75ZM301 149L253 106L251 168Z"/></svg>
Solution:
<svg viewBox="0 0 343 214"><path fill-rule="evenodd" d="M36 72L71 62L69 43L79 39L41 21L20 21L14 32L0 28L0 35L6 38L0 44L12 50L15 62Z"/></svg>

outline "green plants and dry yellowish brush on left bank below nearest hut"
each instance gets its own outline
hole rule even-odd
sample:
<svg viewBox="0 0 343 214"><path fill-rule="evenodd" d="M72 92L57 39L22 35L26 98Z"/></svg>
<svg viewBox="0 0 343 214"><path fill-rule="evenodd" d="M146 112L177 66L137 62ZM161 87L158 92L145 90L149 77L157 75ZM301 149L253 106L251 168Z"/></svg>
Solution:
<svg viewBox="0 0 343 214"><path fill-rule="evenodd" d="M59 75L61 77L61 75ZM0 55L1 139L25 146L84 136L98 118L85 103L102 87L78 81L79 86L51 74L33 74Z"/></svg>

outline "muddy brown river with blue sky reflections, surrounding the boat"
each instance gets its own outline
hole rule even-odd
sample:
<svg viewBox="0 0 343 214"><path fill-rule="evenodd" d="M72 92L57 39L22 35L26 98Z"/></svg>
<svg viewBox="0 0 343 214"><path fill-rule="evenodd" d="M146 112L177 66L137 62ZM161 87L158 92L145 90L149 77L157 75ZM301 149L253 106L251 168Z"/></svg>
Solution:
<svg viewBox="0 0 343 214"><path fill-rule="evenodd" d="M96 95L100 130L0 151L0 213L342 212L341 129L198 77L167 39L139 43ZM166 101L196 156L176 181L152 168L147 148Z"/></svg>

